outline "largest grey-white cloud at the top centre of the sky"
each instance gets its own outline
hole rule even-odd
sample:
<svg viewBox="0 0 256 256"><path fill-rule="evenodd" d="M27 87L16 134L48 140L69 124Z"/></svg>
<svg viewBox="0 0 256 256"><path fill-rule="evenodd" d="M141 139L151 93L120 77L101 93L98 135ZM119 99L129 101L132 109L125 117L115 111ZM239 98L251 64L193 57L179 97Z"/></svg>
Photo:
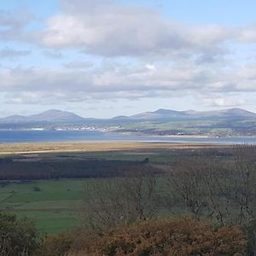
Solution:
<svg viewBox="0 0 256 256"><path fill-rule="evenodd" d="M72 12L66 10L48 20L45 45L78 47L90 54L107 56L166 55L166 50L201 46L201 38L200 44L193 42L195 35L188 27L165 20L150 9L103 1L75 1L74 7Z"/></svg>

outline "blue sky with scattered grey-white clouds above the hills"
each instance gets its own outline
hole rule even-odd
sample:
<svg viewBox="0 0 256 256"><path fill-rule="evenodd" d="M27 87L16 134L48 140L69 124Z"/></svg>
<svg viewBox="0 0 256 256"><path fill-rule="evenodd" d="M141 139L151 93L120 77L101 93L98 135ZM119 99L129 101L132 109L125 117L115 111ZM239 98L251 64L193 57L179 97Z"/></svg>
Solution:
<svg viewBox="0 0 256 256"><path fill-rule="evenodd" d="M0 117L256 112L255 0L2 0Z"/></svg>

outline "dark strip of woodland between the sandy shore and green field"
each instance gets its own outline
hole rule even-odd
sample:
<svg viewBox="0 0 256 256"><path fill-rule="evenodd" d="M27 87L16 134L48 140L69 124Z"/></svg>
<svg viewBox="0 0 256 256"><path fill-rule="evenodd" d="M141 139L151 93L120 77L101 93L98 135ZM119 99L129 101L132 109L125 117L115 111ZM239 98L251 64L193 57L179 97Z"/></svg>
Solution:
<svg viewBox="0 0 256 256"><path fill-rule="evenodd" d="M0 180L120 177L124 172L150 171L152 166L146 164L147 162L143 160L84 160L79 158L65 161L61 158L24 160L20 156L14 160L0 161Z"/></svg>

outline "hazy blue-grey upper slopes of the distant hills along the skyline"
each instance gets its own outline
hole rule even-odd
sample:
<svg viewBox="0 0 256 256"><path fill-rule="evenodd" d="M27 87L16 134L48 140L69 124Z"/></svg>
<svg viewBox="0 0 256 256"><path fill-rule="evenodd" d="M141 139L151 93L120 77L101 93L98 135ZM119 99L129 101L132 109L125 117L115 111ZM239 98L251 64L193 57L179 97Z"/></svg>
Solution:
<svg viewBox="0 0 256 256"><path fill-rule="evenodd" d="M249 112L241 108L230 108L212 111L176 111L170 109L158 109L154 112L137 113L131 116L116 116L112 119L84 118L75 113L50 109L43 113L29 116L11 115L0 119L0 124L81 124L95 123L101 121L105 123L127 123L129 122L171 122L177 120L195 119L256 119L256 113Z"/></svg>

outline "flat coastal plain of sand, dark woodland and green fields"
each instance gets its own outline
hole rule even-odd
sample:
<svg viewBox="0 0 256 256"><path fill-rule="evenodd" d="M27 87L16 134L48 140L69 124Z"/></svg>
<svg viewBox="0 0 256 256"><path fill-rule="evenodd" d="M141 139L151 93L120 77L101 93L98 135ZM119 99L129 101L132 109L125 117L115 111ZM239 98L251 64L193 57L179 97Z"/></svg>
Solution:
<svg viewBox="0 0 256 256"><path fill-rule="evenodd" d="M229 147L152 142L0 143L0 212L30 218L47 234L73 230L84 222L84 188L101 187L111 177L140 168L162 172L180 159L200 154L201 149L225 152ZM163 179L159 177L157 183L162 191Z"/></svg>

